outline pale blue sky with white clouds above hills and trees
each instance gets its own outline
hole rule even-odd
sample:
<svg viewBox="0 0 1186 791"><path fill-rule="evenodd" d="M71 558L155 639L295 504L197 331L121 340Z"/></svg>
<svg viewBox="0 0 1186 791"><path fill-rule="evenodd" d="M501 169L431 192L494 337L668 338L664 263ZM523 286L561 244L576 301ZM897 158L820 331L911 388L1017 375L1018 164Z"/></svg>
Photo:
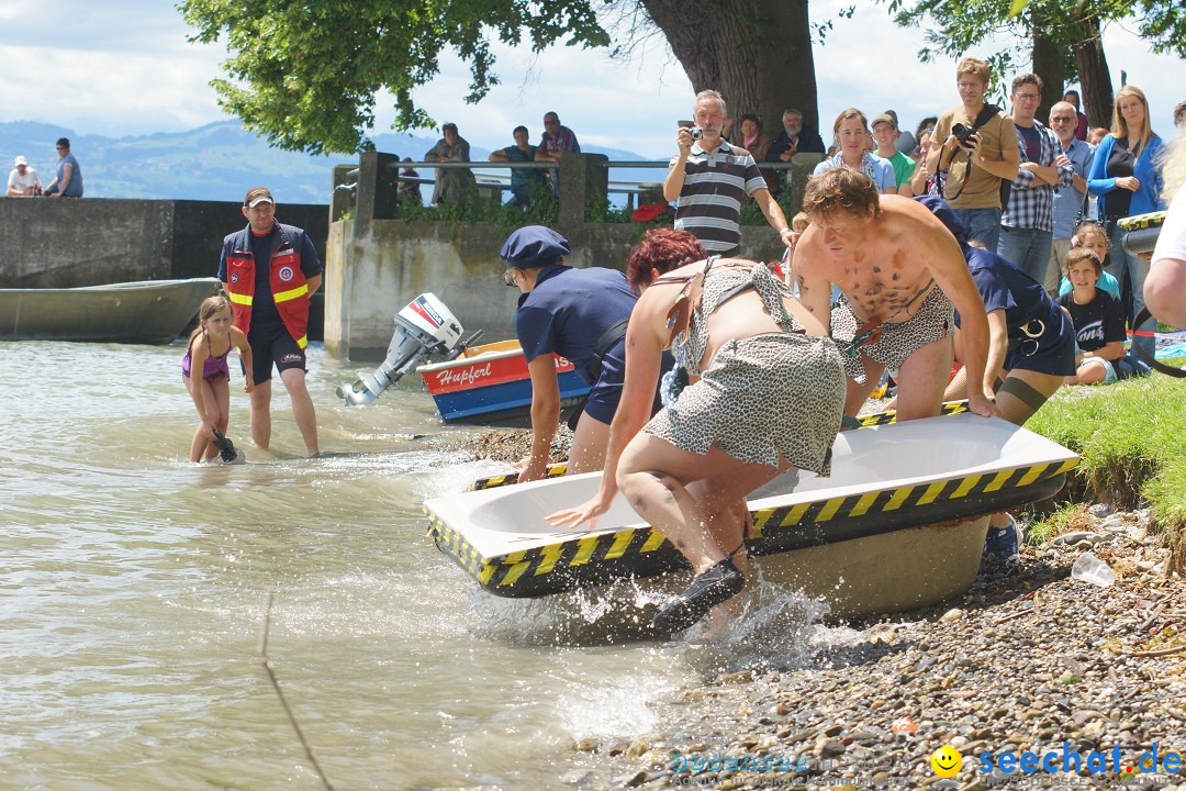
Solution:
<svg viewBox="0 0 1186 791"><path fill-rule="evenodd" d="M822 119L849 106L869 115L892 107L913 127L957 102L954 60L920 64L918 31L895 27L884 5L871 2L857 4L852 19L839 19L837 9L848 5L811 4L814 20L835 20L815 51ZM190 44L190 32L171 0L4 0L0 121L122 136L225 120L208 84L219 76L225 53L221 45ZM1121 25L1105 31L1104 49L1117 87L1124 69L1149 98L1154 129L1172 135L1173 106L1186 95L1186 62L1149 53ZM442 60L440 76L416 100L486 148L510 143L518 123L537 138L543 113L556 110L585 143L670 155L674 122L688 115L691 88L661 45L630 63L579 49L553 47L537 58L525 49L496 45L495 51L503 84L479 104L460 100L468 74L455 58ZM393 114L380 109L377 116L383 132Z"/></svg>

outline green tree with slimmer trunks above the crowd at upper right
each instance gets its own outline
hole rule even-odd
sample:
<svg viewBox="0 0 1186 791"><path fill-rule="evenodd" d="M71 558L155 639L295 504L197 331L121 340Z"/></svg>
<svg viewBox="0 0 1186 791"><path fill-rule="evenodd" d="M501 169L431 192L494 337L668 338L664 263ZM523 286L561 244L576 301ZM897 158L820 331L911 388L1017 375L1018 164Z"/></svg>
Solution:
<svg viewBox="0 0 1186 791"><path fill-rule="evenodd" d="M1063 85L1077 78L1092 126L1111 125L1111 74L1102 40L1108 25L1135 23L1154 52L1186 57L1180 0L879 1L888 5L899 25L925 30L926 46L919 51L924 63L940 53L961 57L989 36L1008 34L1013 44L987 58L994 75L1003 77L1032 63L1046 83L1044 108L1061 98Z"/></svg>

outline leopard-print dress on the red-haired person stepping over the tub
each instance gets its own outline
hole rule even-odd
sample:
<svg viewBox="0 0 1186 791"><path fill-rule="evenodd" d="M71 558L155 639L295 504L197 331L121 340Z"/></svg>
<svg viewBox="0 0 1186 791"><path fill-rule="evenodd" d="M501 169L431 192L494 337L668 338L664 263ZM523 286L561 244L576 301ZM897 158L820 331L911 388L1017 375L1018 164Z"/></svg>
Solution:
<svg viewBox="0 0 1186 791"><path fill-rule="evenodd" d="M708 317L735 288L751 281L784 332L722 344L707 370L697 363L708 345ZM702 286L700 310L675 338L677 359L700 381L683 388L643 429L690 453L718 447L735 459L774 466L779 457L801 470L827 476L831 444L844 408L844 375L830 338L793 334L798 323L786 311L790 292L764 264L718 267ZM678 363L677 363L678 364Z"/></svg>

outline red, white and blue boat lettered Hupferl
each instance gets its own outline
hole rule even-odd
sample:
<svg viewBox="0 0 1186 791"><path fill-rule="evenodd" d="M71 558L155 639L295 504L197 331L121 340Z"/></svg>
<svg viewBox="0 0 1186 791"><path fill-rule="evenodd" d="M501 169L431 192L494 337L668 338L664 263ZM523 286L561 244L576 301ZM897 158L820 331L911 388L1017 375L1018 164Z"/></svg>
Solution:
<svg viewBox="0 0 1186 791"><path fill-rule="evenodd" d="M561 409L581 402L589 385L556 355ZM471 346L454 359L416 369L447 423L528 426L531 376L517 340Z"/></svg>

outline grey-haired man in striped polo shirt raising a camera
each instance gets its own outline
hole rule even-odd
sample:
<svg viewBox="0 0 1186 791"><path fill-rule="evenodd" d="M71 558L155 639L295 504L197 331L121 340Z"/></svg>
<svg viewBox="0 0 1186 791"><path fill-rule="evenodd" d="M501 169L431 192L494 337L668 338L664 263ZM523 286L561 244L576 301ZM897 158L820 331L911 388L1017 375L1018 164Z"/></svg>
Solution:
<svg viewBox="0 0 1186 791"><path fill-rule="evenodd" d="M676 230L695 236L709 253L737 255L741 247L741 200L750 194L783 243L791 247L791 229L770 197L753 157L721 136L725 100L715 90L702 90L691 111L695 126L681 125L676 135L680 153L671 158L663 181L663 197L680 200Z"/></svg>

